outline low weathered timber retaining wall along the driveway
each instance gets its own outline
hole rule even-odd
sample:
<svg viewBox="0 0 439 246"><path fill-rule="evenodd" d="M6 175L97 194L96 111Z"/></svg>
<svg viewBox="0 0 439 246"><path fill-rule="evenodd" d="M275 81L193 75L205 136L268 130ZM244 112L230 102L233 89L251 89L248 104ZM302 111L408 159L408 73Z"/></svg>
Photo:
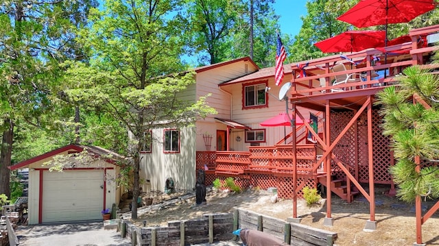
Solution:
<svg viewBox="0 0 439 246"><path fill-rule="evenodd" d="M169 221L167 227L136 227L121 223L122 237L131 238L133 246L185 246L217 241L236 241L232 232L238 228L259 230L290 245L333 245L337 233L313 228L257 212L235 210L233 213L203 214L202 219ZM126 235L125 235L126 234Z"/></svg>

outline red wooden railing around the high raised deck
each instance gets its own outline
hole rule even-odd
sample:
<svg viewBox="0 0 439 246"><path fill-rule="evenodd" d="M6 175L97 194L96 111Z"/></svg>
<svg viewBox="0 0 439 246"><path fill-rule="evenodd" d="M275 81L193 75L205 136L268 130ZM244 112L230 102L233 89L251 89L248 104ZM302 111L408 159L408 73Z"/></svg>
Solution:
<svg viewBox="0 0 439 246"><path fill-rule="evenodd" d="M439 49L438 42L426 43L427 36L439 32L439 25L414 29L410 31L412 42L405 42L385 48L366 49L355 53L345 53L344 56L334 55L318 58L305 62L299 62L304 69L306 77L300 77L298 66L292 66L293 73L293 97L325 95L334 89L364 90L373 87L383 87L395 84L398 76L407 66L422 65L426 69L438 69L439 64L430 63L431 51ZM347 58L347 59L345 59ZM379 59L379 62L373 62ZM352 62L358 64L353 64ZM335 64L343 63L346 71L331 72ZM377 71L385 71L385 76L374 77ZM355 74L357 82L332 85L336 75ZM321 86L320 78L326 80L326 85ZM341 93L340 93L340 96Z"/></svg>

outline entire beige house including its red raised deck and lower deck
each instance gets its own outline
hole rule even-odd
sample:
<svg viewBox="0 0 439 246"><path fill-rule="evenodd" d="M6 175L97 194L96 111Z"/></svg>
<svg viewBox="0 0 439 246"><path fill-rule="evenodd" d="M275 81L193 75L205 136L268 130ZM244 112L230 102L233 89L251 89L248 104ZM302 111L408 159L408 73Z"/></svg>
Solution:
<svg viewBox="0 0 439 246"><path fill-rule="evenodd" d="M179 155L166 156L162 151L147 156L143 175L150 182L158 175L154 180L161 180L150 186L158 190L162 190L164 175L187 182L187 186L177 182L177 188L193 187L194 179L187 175L206 167L207 184L215 178L234 177L243 188L274 186L278 196L293 199L292 221L299 223L297 199L302 188L322 184L328 194L327 226L334 223L332 193L348 203L361 193L370 207L365 229L376 230L375 184L388 184L388 195L395 195L395 188L388 171L394 156L390 139L379 127L382 116L380 106L374 104L375 95L390 85L398 86L398 76L407 66L421 65L437 73L439 65L431 63L431 54L439 49L438 32L439 25L413 29L410 42L284 65L288 98L283 101L276 98L282 95L278 93L283 85L274 86L274 68L251 66L250 58L195 69L191 95L213 93L209 105L217 108L218 114L197 121L185 132L188 138L176 132L179 138L175 139L180 142L175 152ZM248 69L243 69L246 62ZM239 75L224 76L239 68ZM267 89L270 87L272 90ZM414 101L428 106L416 95ZM262 121L286 110L302 125L294 125L291 131L285 127L285 132L283 127L261 127ZM307 121L311 118L317 122L317 132ZM166 134L167 130L161 131ZM180 169L174 169L175 163ZM423 217L421 201L416 200L418 241L420 226L438 208L439 203Z"/></svg>

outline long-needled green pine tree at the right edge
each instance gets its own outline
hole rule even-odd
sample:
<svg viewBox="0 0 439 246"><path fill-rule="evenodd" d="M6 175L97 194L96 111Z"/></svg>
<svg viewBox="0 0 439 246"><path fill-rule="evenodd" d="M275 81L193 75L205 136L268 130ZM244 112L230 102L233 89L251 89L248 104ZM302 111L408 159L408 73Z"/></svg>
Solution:
<svg viewBox="0 0 439 246"><path fill-rule="evenodd" d="M390 173L397 195L408 202L439 197L439 77L427 72L409 67L398 87L377 94L384 134L391 137L397 160Z"/></svg>

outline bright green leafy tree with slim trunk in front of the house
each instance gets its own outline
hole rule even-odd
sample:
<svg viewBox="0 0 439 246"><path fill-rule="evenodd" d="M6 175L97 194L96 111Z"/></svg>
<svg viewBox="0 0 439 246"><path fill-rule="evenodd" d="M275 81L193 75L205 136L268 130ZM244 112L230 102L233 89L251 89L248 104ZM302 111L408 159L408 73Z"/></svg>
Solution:
<svg viewBox="0 0 439 246"><path fill-rule="evenodd" d="M190 125L199 116L214 113L204 105L204 97L189 101L178 97L194 82L193 73L176 73L184 70L180 55L185 38L179 38L187 27L179 13L183 3L106 1L102 11L93 10L93 24L80 32L90 62L65 64L63 93L115 119L124 128L117 134L128 130L134 138L127 153L134 175L132 219L137 219L144 132L158 122Z"/></svg>

